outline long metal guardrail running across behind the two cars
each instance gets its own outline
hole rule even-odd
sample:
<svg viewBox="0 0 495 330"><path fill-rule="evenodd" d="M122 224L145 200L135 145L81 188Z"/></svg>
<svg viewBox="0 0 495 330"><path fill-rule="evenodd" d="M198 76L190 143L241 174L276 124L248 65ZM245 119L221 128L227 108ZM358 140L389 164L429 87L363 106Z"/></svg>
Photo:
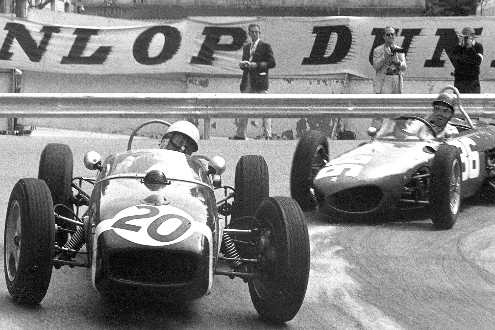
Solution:
<svg viewBox="0 0 495 330"><path fill-rule="evenodd" d="M438 94L0 93L0 117L339 118L424 115ZM495 117L495 94L462 94L471 117ZM457 113L458 115L459 113Z"/></svg>

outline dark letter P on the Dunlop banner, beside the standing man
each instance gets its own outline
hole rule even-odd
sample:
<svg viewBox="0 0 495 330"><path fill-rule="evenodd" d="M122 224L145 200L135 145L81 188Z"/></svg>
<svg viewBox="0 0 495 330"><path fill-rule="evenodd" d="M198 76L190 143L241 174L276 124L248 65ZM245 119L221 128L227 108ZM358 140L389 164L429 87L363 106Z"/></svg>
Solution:
<svg viewBox="0 0 495 330"><path fill-rule="evenodd" d="M222 28L206 26L202 35L205 35L204 42L199 48L198 56L191 58L190 64L213 65L215 58L213 52L219 51L236 51L243 47L247 40L246 32L242 28ZM219 44L222 36L231 36L233 38L230 44Z"/></svg>

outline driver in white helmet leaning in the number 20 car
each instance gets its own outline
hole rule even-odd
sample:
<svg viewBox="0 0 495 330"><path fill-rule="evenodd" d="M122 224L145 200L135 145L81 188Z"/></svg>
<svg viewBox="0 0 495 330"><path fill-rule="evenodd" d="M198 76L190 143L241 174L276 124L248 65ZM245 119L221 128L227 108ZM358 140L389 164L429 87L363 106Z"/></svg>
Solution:
<svg viewBox="0 0 495 330"><path fill-rule="evenodd" d="M198 151L199 131L191 122L179 120L168 128L158 144L160 149L175 150L191 155Z"/></svg>

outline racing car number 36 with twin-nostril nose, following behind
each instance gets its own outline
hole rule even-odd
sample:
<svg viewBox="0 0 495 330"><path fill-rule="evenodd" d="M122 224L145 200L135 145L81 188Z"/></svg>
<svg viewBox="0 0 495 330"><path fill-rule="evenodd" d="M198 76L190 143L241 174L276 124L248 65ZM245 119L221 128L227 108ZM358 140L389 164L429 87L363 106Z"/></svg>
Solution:
<svg viewBox="0 0 495 330"><path fill-rule="evenodd" d="M292 197L303 210L317 206L343 218L429 207L437 228L452 228L461 198L484 183L495 187L495 126L471 120L458 91L447 86L442 92L446 89L457 94L455 106L464 117L450 120L456 134L438 138L423 118L400 115L378 132L368 129L371 141L331 160L326 136L309 131L294 154ZM424 130L409 133L413 121Z"/></svg>

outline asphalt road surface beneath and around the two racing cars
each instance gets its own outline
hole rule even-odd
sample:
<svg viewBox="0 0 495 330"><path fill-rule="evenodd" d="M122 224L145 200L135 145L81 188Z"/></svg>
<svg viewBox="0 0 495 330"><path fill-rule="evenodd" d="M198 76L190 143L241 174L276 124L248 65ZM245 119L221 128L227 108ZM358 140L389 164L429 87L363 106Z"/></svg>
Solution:
<svg viewBox="0 0 495 330"><path fill-rule="evenodd" d="M74 176L94 176L84 168L84 154L94 150L105 157L125 150L127 137L63 132L0 136L0 228L12 187L19 178L37 177L41 151L49 142L71 147ZM155 147L157 141L134 143ZM198 154L223 156L228 166L223 183L231 186L239 157L261 154L270 171L271 195L289 196L296 143L200 141ZM332 141L332 157L357 143ZM16 304L0 280L0 329L495 329L494 207L495 194L463 200L457 223L448 231L436 230L421 213L351 222L305 212L309 284L299 313L285 325L260 321L240 279L216 276L211 294L189 303L122 303L99 296L88 269L64 266L53 270L39 307ZM3 235L0 239L3 248Z"/></svg>

